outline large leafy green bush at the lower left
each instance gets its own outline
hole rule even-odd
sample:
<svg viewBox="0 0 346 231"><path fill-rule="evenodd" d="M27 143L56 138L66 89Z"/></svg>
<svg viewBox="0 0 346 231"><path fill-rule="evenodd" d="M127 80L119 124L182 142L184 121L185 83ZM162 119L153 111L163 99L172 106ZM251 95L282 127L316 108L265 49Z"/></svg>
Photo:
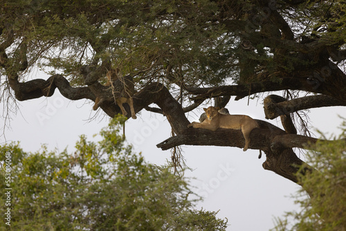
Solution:
<svg viewBox="0 0 346 231"><path fill-rule="evenodd" d="M10 230L225 230L216 212L194 210L188 183L167 167L145 163L119 136L120 120L100 142L81 136L75 152L28 154L19 144L0 147L0 187L10 152ZM1 201L0 213L4 214ZM0 223L0 229L7 226Z"/></svg>

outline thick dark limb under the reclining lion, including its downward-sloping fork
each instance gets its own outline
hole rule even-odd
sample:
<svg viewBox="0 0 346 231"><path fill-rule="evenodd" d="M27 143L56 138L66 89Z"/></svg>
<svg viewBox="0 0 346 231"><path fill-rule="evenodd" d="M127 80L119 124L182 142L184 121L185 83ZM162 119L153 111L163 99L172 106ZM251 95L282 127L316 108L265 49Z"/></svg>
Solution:
<svg viewBox="0 0 346 231"><path fill-rule="evenodd" d="M286 134L278 127L257 120L260 129L253 129L251 132L250 149L260 149L266 154L266 161L263 163L264 169L271 170L280 176L298 183L295 173L304 162L298 158L291 147L305 147L309 143L316 142L317 139L307 138L293 134ZM327 141L326 141L327 142ZM234 129L217 129L209 131L206 129L187 129L183 133L172 138L168 138L156 145L167 150L179 145L212 145L243 148L245 145L242 131ZM309 168L307 165L307 169Z"/></svg>

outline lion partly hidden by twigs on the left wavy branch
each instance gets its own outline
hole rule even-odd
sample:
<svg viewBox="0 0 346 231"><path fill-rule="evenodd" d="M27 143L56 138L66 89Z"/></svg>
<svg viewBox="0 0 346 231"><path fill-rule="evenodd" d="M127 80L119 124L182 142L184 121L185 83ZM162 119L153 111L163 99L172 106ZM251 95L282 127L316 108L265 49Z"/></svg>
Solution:
<svg viewBox="0 0 346 231"><path fill-rule="evenodd" d="M122 81L122 83L121 83L122 88L121 88L121 91L117 92L117 93L120 93L121 96L120 96L120 98L117 98L114 95L114 98L115 98L116 104L118 104L118 106L120 107L122 115L127 115L127 111L122 106L122 104L127 103L127 104L129 104L129 107L131 110L131 118L136 119L137 117L136 117L136 113L134 111L134 100L132 98L132 96L134 95L134 86L133 86L133 83L131 84L131 86L127 86L127 83L126 83L124 78L122 80L120 80L120 78L119 78L119 80ZM109 71L107 73L107 83L104 84L104 86L111 86L112 91L114 93L113 82L115 82L116 80L118 80L117 71ZM93 105L93 110L94 111L97 110L98 107L100 107L100 104L102 102L104 102L104 100L105 100L104 98L97 97L95 99L95 104Z"/></svg>

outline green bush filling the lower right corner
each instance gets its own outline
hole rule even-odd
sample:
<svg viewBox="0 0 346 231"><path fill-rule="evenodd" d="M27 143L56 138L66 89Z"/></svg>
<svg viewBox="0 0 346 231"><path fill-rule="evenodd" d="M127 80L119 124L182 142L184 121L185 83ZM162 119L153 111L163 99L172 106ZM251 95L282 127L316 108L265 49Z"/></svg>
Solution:
<svg viewBox="0 0 346 231"><path fill-rule="evenodd" d="M345 138L345 131L346 129L340 138ZM298 173L302 189L295 197L301 211L288 212L285 219L277 219L275 230L345 230L345 140L338 140L332 144L318 142L316 149L318 151L310 151L306 156L307 163L316 170ZM310 196L306 192L309 192ZM293 224L289 223L292 219Z"/></svg>

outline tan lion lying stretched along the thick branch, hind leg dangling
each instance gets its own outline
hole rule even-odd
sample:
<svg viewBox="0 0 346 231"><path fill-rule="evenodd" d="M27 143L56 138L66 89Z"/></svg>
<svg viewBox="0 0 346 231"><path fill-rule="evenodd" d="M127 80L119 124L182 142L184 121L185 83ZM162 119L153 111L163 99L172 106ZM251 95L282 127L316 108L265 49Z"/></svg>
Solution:
<svg viewBox="0 0 346 231"><path fill-rule="evenodd" d="M250 133L255 127L259 127L257 122L248 115L224 115L219 113L215 107L208 107L203 109L206 111L207 119L203 122L192 122L188 127L208 129L216 131L218 128L221 129L237 129L242 130L245 138L244 151L248 149L250 143Z"/></svg>

